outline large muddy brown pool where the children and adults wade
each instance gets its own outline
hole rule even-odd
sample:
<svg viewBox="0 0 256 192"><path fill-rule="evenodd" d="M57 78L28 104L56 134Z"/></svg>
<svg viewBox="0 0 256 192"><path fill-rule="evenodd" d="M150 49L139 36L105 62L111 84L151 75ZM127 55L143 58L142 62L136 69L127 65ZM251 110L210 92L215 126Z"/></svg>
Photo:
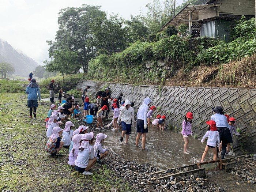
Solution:
<svg viewBox="0 0 256 192"><path fill-rule="evenodd" d="M120 154L124 159L135 160L140 163L150 163L159 168L173 168L182 165L189 165L201 160L206 143L201 143L193 137L189 138L189 154L183 153L184 140L181 133L169 131L159 131L159 129L149 129L146 140L146 150L142 150L142 137L139 147L135 147L136 128L132 129L128 144L120 142L121 128L117 131L106 131L108 135L105 146L112 148L115 153ZM125 139L124 139L125 140ZM211 160L212 152L207 154L206 161Z"/></svg>

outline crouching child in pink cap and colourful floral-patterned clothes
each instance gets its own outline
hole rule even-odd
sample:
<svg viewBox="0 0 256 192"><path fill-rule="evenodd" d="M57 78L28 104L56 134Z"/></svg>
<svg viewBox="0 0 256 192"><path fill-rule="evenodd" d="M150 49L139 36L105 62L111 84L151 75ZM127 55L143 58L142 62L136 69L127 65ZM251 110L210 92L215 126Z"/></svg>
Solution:
<svg viewBox="0 0 256 192"><path fill-rule="evenodd" d="M64 142L61 141L62 130L60 127L54 127L52 134L49 136L48 141L45 146L45 151L49 155L58 155L61 148L64 145Z"/></svg>

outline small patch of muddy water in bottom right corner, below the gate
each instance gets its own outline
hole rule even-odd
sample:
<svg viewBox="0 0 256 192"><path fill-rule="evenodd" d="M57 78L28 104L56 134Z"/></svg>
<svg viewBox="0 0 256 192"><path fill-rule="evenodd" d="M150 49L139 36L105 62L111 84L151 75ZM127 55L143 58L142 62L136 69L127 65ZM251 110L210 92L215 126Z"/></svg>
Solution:
<svg viewBox="0 0 256 192"><path fill-rule="evenodd" d="M225 171L215 171L206 174L206 179L218 187L225 188L227 192L256 192L255 184L242 181L241 177L230 175Z"/></svg>

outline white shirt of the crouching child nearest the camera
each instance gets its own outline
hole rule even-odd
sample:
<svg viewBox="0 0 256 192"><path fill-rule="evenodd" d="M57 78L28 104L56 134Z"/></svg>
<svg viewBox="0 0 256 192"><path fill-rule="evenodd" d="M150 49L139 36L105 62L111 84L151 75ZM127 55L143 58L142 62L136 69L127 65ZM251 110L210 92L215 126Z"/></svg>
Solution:
<svg viewBox="0 0 256 192"><path fill-rule="evenodd" d="M78 156L75 161L75 165L81 168L86 168L88 165L89 159L94 159L93 146L90 146L90 145L89 147L84 149L82 152L78 153Z"/></svg>

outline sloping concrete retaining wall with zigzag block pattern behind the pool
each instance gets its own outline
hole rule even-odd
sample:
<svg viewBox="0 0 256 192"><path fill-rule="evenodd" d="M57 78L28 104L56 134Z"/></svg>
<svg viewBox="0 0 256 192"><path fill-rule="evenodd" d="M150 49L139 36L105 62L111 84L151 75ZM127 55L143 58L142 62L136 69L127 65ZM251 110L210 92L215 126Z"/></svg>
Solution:
<svg viewBox="0 0 256 192"><path fill-rule="evenodd" d="M123 99L135 103L135 111L143 103L143 99L150 97L152 104L158 108L154 114L165 115L167 127L180 129L187 112L193 113L193 134L202 138L207 131L206 121L213 114L211 108L222 106L225 114L236 118L237 128L248 133L246 138L249 150L256 151L256 89L238 89L222 87L162 87L131 86L108 82L94 82L83 80L77 88L90 86L89 94L95 95L99 90L110 87L111 97L115 98L123 93ZM161 109L159 109L161 107ZM245 135L245 134L242 134ZM238 150L239 137L233 136L233 148Z"/></svg>

